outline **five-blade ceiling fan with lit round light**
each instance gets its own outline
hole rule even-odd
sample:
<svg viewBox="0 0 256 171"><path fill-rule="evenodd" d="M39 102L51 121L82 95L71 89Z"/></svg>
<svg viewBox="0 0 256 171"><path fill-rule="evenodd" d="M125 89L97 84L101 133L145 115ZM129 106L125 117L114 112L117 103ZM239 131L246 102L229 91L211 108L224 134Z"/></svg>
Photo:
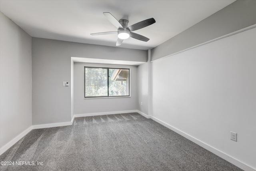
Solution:
<svg viewBox="0 0 256 171"><path fill-rule="evenodd" d="M149 38L146 38L145 36L142 36L140 34L136 34L132 31L139 30L141 28L144 28L146 26L149 26L151 24L154 24L156 20L154 18L149 18L147 20L138 22L136 24L133 24L132 26L128 27L128 20L121 19L121 20L116 20L112 14L109 12L103 12L103 14L106 16L106 18L114 25L116 28L118 28L117 31L114 32L100 32L100 33L92 33L92 36L96 35L104 35L104 34L118 34L118 39L116 41L116 46L120 46L124 39L128 39L129 37L141 40L144 42L148 42Z"/></svg>

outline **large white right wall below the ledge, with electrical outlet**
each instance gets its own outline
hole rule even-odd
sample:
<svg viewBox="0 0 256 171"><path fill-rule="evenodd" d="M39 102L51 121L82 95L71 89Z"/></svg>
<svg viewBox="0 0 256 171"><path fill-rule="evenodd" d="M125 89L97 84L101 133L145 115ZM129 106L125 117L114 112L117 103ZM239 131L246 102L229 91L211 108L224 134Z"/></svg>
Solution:
<svg viewBox="0 0 256 171"><path fill-rule="evenodd" d="M256 169L255 45L253 28L152 62L153 117Z"/></svg>

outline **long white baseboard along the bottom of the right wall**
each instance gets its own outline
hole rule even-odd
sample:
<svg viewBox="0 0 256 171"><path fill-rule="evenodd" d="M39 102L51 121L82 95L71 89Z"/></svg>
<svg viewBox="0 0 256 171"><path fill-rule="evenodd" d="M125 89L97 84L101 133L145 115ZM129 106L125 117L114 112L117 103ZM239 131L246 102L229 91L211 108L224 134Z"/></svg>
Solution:
<svg viewBox="0 0 256 171"><path fill-rule="evenodd" d="M138 112L139 113L139 112ZM197 145L200 145L201 147L203 147L204 149L207 149L208 151L218 155L219 157L225 159L226 161L232 163L233 165L236 165L237 167L245 170L245 171L256 171L256 169L242 163L241 161L239 161L238 159L235 159L233 157L231 157L230 155L226 154L226 153L223 153L222 151L219 151L218 149L200 141L199 139L196 139L195 137L192 137L191 135L188 135L187 133L169 125L168 123L165 123L159 119L157 119L156 117L153 117L153 116L148 116L146 118L150 118L150 119L153 119L154 121L160 123L161 125L164 125L165 127L171 129L172 131L182 135L183 137L189 139L190 141L196 143Z"/></svg>

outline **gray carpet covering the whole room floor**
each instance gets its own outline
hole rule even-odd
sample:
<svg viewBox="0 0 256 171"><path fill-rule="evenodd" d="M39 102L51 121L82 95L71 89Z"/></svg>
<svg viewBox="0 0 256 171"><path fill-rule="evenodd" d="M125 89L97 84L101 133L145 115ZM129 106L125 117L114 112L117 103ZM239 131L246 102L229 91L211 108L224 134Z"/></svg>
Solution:
<svg viewBox="0 0 256 171"><path fill-rule="evenodd" d="M78 117L70 126L34 129L0 161L14 161L1 171L241 171L138 113Z"/></svg>

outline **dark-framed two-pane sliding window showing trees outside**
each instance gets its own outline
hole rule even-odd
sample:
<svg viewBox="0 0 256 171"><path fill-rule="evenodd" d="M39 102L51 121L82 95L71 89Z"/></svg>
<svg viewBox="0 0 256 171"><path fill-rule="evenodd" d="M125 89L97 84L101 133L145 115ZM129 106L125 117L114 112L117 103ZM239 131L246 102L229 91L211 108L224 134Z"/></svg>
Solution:
<svg viewBox="0 0 256 171"><path fill-rule="evenodd" d="M130 69L84 67L84 97L130 96Z"/></svg>

